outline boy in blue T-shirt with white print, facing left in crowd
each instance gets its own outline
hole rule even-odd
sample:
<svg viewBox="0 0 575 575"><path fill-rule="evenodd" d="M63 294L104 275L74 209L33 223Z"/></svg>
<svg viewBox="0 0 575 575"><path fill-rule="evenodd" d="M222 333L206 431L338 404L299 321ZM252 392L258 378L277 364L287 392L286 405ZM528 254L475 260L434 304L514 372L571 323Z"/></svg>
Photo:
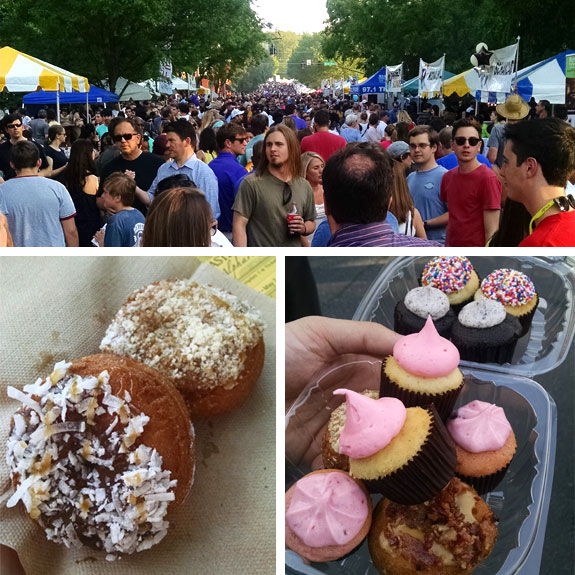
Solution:
<svg viewBox="0 0 575 575"><path fill-rule="evenodd" d="M111 174L104 182L103 208L114 215L107 226L96 232L94 239L99 246L138 247L144 231L145 218L132 207L136 197L136 182L120 172Z"/></svg>

